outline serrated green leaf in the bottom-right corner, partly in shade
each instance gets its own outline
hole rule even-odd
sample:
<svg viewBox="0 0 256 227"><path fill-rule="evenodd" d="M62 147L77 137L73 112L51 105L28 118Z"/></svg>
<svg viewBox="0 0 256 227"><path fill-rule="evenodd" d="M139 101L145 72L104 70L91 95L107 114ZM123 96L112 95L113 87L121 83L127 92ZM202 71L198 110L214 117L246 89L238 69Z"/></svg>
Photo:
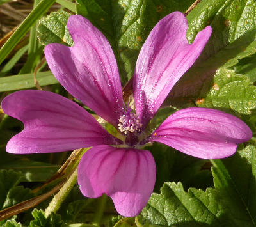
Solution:
<svg viewBox="0 0 256 227"><path fill-rule="evenodd" d="M256 217L256 147L240 145L227 159L211 160L215 189L165 183L141 215L162 226L253 226Z"/></svg>

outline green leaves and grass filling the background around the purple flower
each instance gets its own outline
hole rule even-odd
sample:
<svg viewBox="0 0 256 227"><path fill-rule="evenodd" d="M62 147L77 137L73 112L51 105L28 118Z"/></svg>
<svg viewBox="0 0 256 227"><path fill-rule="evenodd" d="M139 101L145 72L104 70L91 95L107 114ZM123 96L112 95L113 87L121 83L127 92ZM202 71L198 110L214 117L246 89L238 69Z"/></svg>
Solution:
<svg viewBox="0 0 256 227"><path fill-rule="evenodd" d="M0 1L3 4L5 1ZM7 93L40 86L67 97L58 81L45 70L44 45L52 42L72 46L67 30L69 15L87 17L106 35L116 56L124 85L131 79L138 53L150 30L165 15L185 12L190 0L77 0L57 1L64 10L45 15L54 1L42 0L0 49L0 91ZM47 3L47 4L45 4ZM42 5L44 4L44 8ZM68 12L67 12L68 10ZM155 144L148 148L157 165L154 193L140 215L120 217L107 199L100 223L95 222L102 199L84 198L74 187L57 214L44 214L51 198L26 212L0 222L1 226L256 226L256 2L254 0L202 0L187 15L187 38L212 26L212 36L196 63L177 82L154 123L184 107L221 109L244 120L253 131L236 155L222 160L188 157L173 148ZM35 29L36 28L36 29ZM27 46L11 58L10 51L30 30ZM36 38L38 36L38 38ZM34 37L34 38L33 38ZM39 40L39 41L38 41ZM171 51L171 50L166 50ZM12 68L28 53L19 74ZM22 124L2 114L0 123L0 207L12 207L49 191L33 191L51 178L70 152L45 155L10 155L5 145ZM1 217L1 213L0 213Z"/></svg>

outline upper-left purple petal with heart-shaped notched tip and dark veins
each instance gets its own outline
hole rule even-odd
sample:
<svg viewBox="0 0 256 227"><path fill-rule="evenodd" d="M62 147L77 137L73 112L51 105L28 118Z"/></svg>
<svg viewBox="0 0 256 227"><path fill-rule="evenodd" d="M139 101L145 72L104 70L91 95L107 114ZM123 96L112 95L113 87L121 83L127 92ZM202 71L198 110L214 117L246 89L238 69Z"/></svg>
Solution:
<svg viewBox="0 0 256 227"><path fill-rule="evenodd" d="M61 85L104 120L118 124L123 107L116 59L105 36L80 15L68 19L74 47L52 43L45 58Z"/></svg>

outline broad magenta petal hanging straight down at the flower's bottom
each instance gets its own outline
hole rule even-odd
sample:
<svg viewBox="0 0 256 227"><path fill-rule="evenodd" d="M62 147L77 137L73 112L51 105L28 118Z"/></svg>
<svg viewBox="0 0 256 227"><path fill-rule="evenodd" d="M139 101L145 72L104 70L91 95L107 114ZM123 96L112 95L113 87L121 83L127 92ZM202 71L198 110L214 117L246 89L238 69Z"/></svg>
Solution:
<svg viewBox="0 0 256 227"><path fill-rule="evenodd" d="M106 193L119 214L133 217L145 207L154 189L156 164L147 150L95 146L83 155L77 180L84 196Z"/></svg>

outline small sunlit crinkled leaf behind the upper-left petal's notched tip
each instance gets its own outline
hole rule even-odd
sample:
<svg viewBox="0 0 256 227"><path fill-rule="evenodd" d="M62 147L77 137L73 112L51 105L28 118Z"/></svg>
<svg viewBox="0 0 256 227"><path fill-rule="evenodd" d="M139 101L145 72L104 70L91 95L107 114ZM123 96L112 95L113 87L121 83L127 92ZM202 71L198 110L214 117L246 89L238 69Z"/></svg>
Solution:
<svg viewBox="0 0 256 227"><path fill-rule="evenodd" d="M49 43L63 43L73 45L73 40L67 29L68 17L70 13L60 10L51 12L49 16L43 17L38 22L38 39L43 45Z"/></svg>

